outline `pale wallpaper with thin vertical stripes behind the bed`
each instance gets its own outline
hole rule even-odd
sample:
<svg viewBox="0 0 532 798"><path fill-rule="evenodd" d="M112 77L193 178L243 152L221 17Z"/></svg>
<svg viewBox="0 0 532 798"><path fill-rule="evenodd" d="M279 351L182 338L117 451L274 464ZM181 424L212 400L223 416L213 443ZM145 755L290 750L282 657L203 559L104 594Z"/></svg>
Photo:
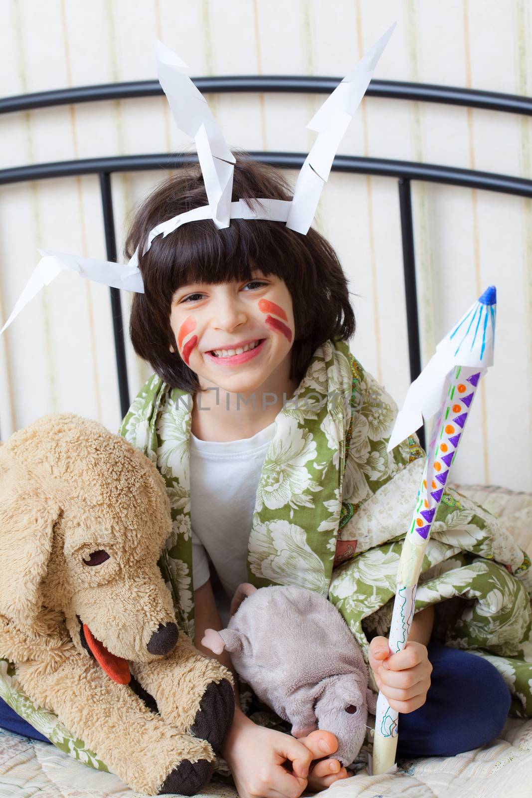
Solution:
<svg viewBox="0 0 532 798"><path fill-rule="evenodd" d="M530 0L0 0L0 96L156 77L153 42L193 75L341 76L396 19L376 77L528 94ZM323 97L208 98L227 141L305 151ZM161 98L0 117L2 167L189 148ZM530 120L368 98L341 152L532 177ZM117 235L160 173L112 178ZM288 174L293 180L294 175ZM424 362L494 282L496 363L483 384L455 478L532 488L532 206L490 192L413 184ZM395 180L333 174L317 217L349 275L353 351L400 403L408 388ZM0 188L0 322L37 263L37 247L104 257L96 177ZM128 312L124 296L124 312ZM2 326L0 324L0 326ZM132 396L149 371L128 347ZM68 410L120 421L108 289L61 275L0 338L0 430Z"/></svg>

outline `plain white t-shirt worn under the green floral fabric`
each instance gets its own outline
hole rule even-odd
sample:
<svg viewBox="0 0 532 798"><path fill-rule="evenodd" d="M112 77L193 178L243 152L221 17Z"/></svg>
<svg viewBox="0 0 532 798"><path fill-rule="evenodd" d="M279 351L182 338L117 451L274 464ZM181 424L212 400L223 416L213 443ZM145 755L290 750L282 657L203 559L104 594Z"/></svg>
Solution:
<svg viewBox="0 0 532 798"><path fill-rule="evenodd" d="M194 589L209 579L210 558L223 588L217 605L224 624L234 591L247 581L247 543L255 496L274 431L275 422L251 438L223 443L191 435Z"/></svg>

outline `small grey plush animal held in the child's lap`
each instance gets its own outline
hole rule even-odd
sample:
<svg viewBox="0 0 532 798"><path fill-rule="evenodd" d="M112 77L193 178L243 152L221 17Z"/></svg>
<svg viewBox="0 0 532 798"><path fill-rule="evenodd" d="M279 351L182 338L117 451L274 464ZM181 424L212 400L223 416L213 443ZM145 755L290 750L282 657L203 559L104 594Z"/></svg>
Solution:
<svg viewBox="0 0 532 798"><path fill-rule="evenodd" d="M360 646L322 595L240 585L227 629L207 629L202 645L215 654L229 651L234 669L292 724L294 737L328 729L338 740L333 757L346 766L357 757L376 696Z"/></svg>

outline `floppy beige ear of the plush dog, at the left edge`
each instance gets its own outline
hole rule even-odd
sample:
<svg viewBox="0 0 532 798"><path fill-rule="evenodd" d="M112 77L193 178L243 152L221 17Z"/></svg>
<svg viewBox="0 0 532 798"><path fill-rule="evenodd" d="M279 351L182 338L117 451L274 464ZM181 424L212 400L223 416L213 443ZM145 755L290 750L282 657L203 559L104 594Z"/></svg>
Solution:
<svg viewBox="0 0 532 798"><path fill-rule="evenodd" d="M32 626L41 610L41 583L60 512L0 449L0 614L17 626Z"/></svg>

